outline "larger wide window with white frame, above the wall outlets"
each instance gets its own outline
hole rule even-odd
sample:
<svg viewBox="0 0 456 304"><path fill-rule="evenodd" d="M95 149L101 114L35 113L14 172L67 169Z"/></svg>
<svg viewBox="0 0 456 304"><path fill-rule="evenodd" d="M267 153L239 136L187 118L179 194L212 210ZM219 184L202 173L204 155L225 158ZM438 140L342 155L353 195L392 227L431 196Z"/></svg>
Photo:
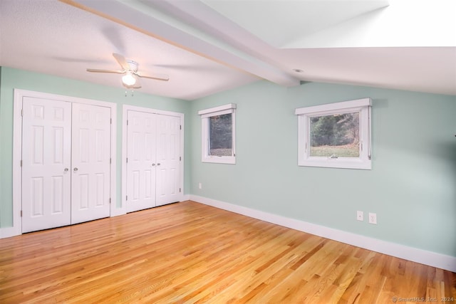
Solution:
<svg viewBox="0 0 456 304"><path fill-rule="evenodd" d="M297 108L299 166L371 169L371 98Z"/></svg>

